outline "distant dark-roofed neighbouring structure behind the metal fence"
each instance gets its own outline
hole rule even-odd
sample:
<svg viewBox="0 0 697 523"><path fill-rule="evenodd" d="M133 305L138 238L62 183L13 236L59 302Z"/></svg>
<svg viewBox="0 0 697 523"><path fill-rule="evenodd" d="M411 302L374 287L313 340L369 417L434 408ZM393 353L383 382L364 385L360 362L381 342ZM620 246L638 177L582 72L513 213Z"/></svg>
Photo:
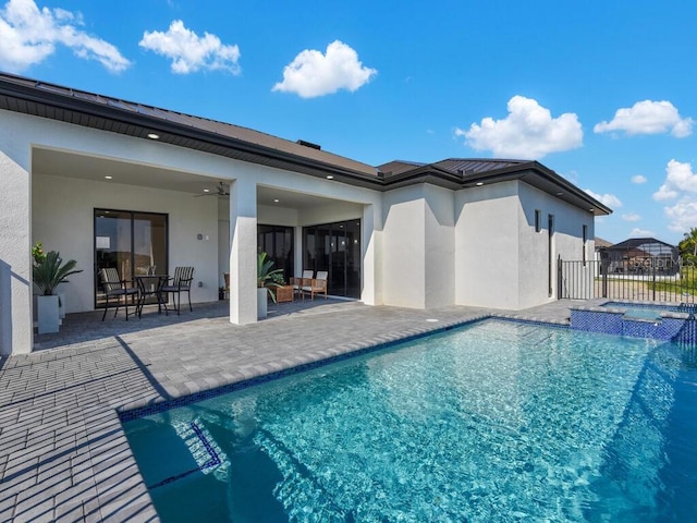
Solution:
<svg viewBox="0 0 697 523"><path fill-rule="evenodd" d="M631 238L601 250L600 256L607 259L608 273L672 276L680 270L677 247L655 238Z"/></svg>

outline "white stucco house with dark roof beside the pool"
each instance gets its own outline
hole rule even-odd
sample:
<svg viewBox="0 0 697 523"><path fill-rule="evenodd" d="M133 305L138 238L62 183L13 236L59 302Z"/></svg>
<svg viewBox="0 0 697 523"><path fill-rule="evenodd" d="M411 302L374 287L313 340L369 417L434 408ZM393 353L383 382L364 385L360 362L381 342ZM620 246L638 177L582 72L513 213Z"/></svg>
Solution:
<svg viewBox="0 0 697 523"><path fill-rule="evenodd" d="M194 266L192 301L256 321L256 253L369 305L521 309L611 210L536 161L375 168L249 129L0 74L0 353L33 346L30 247L77 260L68 312L122 277ZM389 151L386 151L389 153ZM208 191L208 192L206 192Z"/></svg>

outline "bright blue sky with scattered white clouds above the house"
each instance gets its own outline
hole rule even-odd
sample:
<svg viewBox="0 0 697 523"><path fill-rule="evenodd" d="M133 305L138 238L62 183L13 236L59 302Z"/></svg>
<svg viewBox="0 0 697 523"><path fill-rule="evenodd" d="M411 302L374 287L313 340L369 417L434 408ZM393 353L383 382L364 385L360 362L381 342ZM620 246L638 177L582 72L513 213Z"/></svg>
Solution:
<svg viewBox="0 0 697 523"><path fill-rule="evenodd" d="M0 0L0 70L306 139L366 163L530 158L697 227L692 0Z"/></svg>

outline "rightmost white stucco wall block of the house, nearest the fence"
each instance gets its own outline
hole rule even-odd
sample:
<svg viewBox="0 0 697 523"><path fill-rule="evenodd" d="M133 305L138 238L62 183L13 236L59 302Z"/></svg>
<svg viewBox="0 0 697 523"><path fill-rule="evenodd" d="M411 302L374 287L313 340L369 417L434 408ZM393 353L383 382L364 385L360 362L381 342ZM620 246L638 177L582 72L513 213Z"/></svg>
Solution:
<svg viewBox="0 0 697 523"><path fill-rule="evenodd" d="M557 300L558 256L580 259L583 224L588 226L589 238L594 234L591 212L519 181L461 191L457 208L455 292L462 305L522 309ZM554 217L551 267L549 215Z"/></svg>

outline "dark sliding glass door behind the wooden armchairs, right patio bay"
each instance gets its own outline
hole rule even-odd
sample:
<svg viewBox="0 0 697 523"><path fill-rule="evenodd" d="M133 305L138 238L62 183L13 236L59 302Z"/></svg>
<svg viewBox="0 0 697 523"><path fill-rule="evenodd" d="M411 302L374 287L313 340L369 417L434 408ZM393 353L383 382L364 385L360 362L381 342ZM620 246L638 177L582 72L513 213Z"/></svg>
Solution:
<svg viewBox="0 0 697 523"><path fill-rule="evenodd" d="M303 268L329 272L329 294L360 297L360 220L303 228Z"/></svg>

